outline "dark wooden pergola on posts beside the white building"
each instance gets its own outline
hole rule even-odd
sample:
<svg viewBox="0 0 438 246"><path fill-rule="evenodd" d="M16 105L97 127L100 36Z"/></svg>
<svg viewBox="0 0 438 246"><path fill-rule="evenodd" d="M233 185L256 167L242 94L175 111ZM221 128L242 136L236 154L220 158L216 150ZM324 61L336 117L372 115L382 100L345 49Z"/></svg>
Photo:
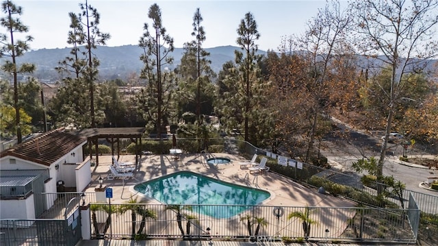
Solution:
<svg viewBox="0 0 438 246"><path fill-rule="evenodd" d="M144 127L105 127L105 128L88 128L77 132L79 136L86 137L88 147L90 148L90 160L92 160L92 145L95 147L96 166L99 166L99 139L105 139L111 143L111 154L114 155L114 143L117 143L117 158L120 156L120 138L129 139L136 143L136 168L138 167L139 155L142 158L142 152L139 151L138 140L142 146L142 135L146 131Z"/></svg>

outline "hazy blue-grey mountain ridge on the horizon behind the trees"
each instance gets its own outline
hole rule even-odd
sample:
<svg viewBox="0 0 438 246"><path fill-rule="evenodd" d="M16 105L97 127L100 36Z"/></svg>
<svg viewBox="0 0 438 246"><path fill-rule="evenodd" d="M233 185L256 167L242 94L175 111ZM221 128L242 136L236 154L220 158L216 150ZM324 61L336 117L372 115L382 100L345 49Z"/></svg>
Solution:
<svg viewBox="0 0 438 246"><path fill-rule="evenodd" d="M18 64L29 62L36 65L36 71L32 76L40 81L55 82L61 79L61 75L55 71L55 67L59 66L60 61L70 56L71 48L54 48L54 49L36 49L26 52L23 56L17 58ZM82 49L84 50L84 49ZM210 53L208 59L211 61L211 69L218 73L222 69L225 62L234 61L234 51L242 50L240 47L233 45L224 45L212 48L206 48L205 51ZM99 80L105 81L110 79L127 79L129 75L136 73L140 74L143 68L143 63L140 61L142 49L138 45L122 45L116 47L97 46L93 49L93 54L96 56L101 64L99 65ZM175 69L180 63L183 56L183 48L175 48L171 53L174 58L174 63L169 66L169 69ZM297 51L300 52L300 51ZM261 55L266 55L267 51L258 51ZM0 58L0 62L6 58ZM367 66L370 60L365 56L357 55L357 65ZM374 59L371 62L378 62ZM427 64L429 70L433 69L433 65L437 64L437 60L429 60ZM381 65L381 64L377 64Z"/></svg>

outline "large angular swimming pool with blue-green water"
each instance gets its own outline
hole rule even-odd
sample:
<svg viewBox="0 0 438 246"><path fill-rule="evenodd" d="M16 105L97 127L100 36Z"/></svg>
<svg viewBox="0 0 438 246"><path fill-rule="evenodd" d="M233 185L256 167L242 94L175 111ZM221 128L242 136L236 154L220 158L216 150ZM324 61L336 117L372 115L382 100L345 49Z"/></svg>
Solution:
<svg viewBox="0 0 438 246"><path fill-rule="evenodd" d="M270 197L265 190L223 182L190 171L180 171L137 184L134 190L162 204L190 204L194 212L215 218L233 217Z"/></svg>

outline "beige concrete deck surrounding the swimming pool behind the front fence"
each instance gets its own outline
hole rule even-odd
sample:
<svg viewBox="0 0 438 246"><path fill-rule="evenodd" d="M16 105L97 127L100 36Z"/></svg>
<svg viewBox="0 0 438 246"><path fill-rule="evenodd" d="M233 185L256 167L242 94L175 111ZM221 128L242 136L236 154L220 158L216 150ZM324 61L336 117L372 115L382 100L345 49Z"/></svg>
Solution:
<svg viewBox="0 0 438 246"><path fill-rule="evenodd" d="M114 178L108 180L111 156L99 156L99 165L92 167L92 182L86 188L86 192L94 192L94 188L99 186L99 177L103 177L103 185L113 188L112 204L124 204L133 195L133 186L146 182L162 175L174 173L176 171L193 171L214 177L216 179L252 186L268 190L272 195L263 202L269 206L318 206L318 207L353 207L354 203L332 195L318 193L315 188L302 186L286 177L272 172L250 173L248 169L241 169L239 162L243 161L240 156L227 153L211 153L206 155L181 154L179 160L175 160L171 155L147 155L142 156L138 169L134 171L133 177L128 180ZM230 164L209 165L206 158L226 157L231 160ZM119 162L135 162L133 155L120 155ZM147 203L158 203L154 199L138 196L138 201Z"/></svg>

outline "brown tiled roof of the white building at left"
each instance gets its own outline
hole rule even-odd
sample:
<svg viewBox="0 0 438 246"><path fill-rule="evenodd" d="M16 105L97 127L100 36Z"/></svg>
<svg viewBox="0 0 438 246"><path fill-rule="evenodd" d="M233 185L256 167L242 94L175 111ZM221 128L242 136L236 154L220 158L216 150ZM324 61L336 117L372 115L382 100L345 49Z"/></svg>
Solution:
<svg viewBox="0 0 438 246"><path fill-rule="evenodd" d="M64 128L46 132L32 140L28 140L0 153L4 156L14 156L49 167L67 153L86 143L87 138L65 132Z"/></svg>

